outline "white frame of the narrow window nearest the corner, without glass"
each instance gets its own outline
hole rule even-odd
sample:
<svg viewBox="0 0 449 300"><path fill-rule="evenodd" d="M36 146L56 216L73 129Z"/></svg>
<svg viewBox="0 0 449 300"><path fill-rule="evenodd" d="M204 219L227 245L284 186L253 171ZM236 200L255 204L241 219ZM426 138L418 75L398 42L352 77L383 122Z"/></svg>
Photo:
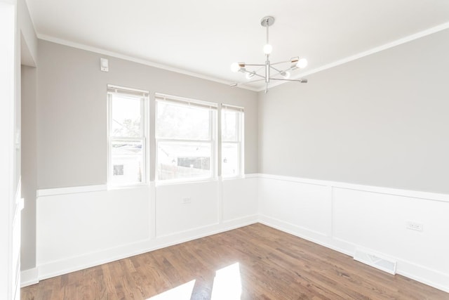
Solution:
<svg viewBox="0 0 449 300"><path fill-rule="evenodd" d="M224 113L226 110L232 110L234 112L239 112L238 117L236 118L236 133L237 133L237 141L225 141L223 139L223 119L224 119ZM220 153L221 153L221 161L220 161L220 167L221 167L221 177L222 179L234 179L234 178L243 178L245 174L245 108L241 106L236 105L228 105L225 103L222 103L221 105L221 124L220 124L220 134L221 134L221 145L220 145ZM237 159L238 161L238 173L236 175L232 176L225 176L223 174L223 164L224 164L224 157L223 157L223 145L225 144L234 144L238 145L239 150L239 157Z"/></svg>

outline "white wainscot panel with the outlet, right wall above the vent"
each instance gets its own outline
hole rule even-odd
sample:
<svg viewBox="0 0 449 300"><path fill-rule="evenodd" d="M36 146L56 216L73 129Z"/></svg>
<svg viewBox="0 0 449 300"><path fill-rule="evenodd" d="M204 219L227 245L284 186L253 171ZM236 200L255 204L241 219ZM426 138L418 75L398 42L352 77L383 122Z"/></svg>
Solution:
<svg viewBox="0 0 449 300"><path fill-rule="evenodd" d="M336 239L394 257L405 273L410 264L449 274L449 202L344 188L333 195Z"/></svg>

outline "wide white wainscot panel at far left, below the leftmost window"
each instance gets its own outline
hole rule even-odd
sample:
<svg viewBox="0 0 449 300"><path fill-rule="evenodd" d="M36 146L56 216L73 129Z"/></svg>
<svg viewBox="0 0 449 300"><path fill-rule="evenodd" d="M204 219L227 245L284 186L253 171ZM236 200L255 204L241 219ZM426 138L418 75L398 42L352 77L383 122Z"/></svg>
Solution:
<svg viewBox="0 0 449 300"><path fill-rule="evenodd" d="M148 239L148 215L148 187L39 197L37 265Z"/></svg>

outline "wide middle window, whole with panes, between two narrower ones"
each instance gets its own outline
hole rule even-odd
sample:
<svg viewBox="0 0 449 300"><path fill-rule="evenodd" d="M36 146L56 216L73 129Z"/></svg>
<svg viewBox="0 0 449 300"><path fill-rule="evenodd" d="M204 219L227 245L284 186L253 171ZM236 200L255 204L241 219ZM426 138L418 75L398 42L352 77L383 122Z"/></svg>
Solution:
<svg viewBox="0 0 449 300"><path fill-rule="evenodd" d="M215 177L217 104L156 94L156 180Z"/></svg>

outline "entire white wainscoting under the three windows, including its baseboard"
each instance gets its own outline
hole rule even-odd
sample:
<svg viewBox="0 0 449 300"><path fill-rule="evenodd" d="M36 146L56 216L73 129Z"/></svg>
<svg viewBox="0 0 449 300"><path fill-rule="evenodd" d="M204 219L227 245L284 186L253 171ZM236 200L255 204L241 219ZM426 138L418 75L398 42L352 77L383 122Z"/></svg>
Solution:
<svg viewBox="0 0 449 300"><path fill-rule="evenodd" d="M39 190L36 220L38 272L22 271L22 286L256 223L257 176Z"/></svg>

